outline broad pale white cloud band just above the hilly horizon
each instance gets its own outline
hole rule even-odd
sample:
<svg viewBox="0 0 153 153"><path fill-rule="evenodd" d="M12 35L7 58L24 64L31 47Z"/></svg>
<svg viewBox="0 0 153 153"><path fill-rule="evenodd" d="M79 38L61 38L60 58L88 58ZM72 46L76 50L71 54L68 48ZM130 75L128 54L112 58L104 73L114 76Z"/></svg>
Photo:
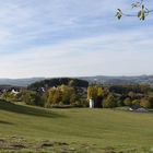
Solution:
<svg viewBox="0 0 153 153"><path fill-rule="evenodd" d="M153 44L152 37L146 37L151 28L141 31L109 33L2 56L1 76L152 73Z"/></svg>

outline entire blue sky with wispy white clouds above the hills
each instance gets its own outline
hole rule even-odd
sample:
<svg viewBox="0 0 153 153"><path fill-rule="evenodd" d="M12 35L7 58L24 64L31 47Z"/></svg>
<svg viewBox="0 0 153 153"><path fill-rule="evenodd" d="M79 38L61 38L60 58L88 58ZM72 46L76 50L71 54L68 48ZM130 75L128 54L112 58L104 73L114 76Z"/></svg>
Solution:
<svg viewBox="0 0 153 153"><path fill-rule="evenodd" d="M115 17L131 2L0 0L0 78L153 74L153 14Z"/></svg>

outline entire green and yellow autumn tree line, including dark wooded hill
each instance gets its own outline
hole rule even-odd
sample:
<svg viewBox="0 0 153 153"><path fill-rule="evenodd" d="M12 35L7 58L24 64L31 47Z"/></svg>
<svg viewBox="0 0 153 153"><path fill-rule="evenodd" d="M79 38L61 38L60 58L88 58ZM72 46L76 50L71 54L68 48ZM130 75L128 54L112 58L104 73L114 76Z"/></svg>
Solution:
<svg viewBox="0 0 153 153"><path fill-rule="evenodd" d="M42 107L89 107L93 99L97 108L139 105L153 108L153 87L148 84L89 84L76 79L51 79L36 82L17 94L7 91L1 98Z"/></svg>

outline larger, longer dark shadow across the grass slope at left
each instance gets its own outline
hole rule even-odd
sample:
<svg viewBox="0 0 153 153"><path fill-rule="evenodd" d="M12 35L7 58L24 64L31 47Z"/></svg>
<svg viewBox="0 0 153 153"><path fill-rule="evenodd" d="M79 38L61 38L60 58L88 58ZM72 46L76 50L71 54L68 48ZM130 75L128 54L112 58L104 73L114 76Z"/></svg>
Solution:
<svg viewBox="0 0 153 153"><path fill-rule="evenodd" d="M66 117L56 114L51 110L28 107L24 105L16 105L11 102L4 102L4 101L0 101L0 109L16 113L16 114L24 114L24 115L38 116L38 117L50 117L50 118Z"/></svg>

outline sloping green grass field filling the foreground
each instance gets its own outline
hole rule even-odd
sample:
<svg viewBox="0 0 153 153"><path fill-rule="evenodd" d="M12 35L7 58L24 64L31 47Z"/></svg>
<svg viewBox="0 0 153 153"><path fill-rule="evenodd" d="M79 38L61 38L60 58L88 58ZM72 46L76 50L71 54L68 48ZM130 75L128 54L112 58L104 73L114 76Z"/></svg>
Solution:
<svg viewBox="0 0 153 153"><path fill-rule="evenodd" d="M1 152L149 153L153 114L0 102Z"/></svg>

